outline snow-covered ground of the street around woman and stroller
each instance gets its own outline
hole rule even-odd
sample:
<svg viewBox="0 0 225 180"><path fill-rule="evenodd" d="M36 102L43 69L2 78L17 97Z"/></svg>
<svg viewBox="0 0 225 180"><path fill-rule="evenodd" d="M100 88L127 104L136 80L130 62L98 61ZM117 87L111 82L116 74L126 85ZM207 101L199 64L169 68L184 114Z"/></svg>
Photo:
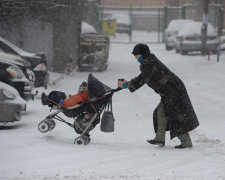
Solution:
<svg viewBox="0 0 225 180"><path fill-rule="evenodd" d="M133 46L111 44L107 71L93 75L112 88L117 79L138 75ZM40 133L38 123L50 112L35 99L27 103L20 122L0 126L0 179L224 180L225 54L216 62L215 55L208 61L199 55L165 51L162 44L149 46L187 87L200 122L190 133L193 148L175 149L180 142L170 140L169 133L164 148L146 142L154 138L152 112L160 100L146 85L135 93L114 94L115 132L103 133L97 125L87 146L73 144L78 135L61 122L52 131ZM52 73L51 79L58 76ZM87 77L88 72L75 72L47 91L75 94Z"/></svg>

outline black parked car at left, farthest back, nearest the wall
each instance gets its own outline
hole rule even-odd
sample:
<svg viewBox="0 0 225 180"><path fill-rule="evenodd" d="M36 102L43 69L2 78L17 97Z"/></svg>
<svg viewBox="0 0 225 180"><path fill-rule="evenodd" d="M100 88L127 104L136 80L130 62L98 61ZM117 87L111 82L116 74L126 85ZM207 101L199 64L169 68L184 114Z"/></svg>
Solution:
<svg viewBox="0 0 225 180"><path fill-rule="evenodd" d="M44 54L26 52L2 37L0 37L0 49L5 53L18 55L31 64L31 68L36 77L34 82L35 87L47 86L49 73L47 71L47 60Z"/></svg>

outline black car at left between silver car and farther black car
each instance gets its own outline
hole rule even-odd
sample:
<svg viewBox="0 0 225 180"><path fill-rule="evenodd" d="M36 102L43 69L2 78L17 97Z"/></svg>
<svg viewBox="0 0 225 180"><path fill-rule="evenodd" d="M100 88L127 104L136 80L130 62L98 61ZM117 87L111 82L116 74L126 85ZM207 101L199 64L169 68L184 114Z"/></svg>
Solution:
<svg viewBox="0 0 225 180"><path fill-rule="evenodd" d="M22 66L22 63L17 64ZM29 100L33 98L32 83L18 65L0 54L0 81L13 86L22 98Z"/></svg>

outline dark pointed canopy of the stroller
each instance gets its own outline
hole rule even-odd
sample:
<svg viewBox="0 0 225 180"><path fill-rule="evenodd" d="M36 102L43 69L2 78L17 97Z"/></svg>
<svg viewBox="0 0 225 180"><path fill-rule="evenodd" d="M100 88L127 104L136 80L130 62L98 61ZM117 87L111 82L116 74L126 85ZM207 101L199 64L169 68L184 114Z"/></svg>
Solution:
<svg viewBox="0 0 225 180"><path fill-rule="evenodd" d="M88 76L88 97L91 100L101 98L106 92L110 91L112 88L106 86L98 79L96 79L92 74Z"/></svg>

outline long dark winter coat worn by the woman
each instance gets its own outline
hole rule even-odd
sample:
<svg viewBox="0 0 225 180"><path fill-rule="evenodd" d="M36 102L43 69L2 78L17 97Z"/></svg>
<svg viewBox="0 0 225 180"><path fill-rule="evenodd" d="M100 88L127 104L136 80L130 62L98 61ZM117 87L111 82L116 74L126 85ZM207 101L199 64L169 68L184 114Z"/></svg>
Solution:
<svg viewBox="0 0 225 180"><path fill-rule="evenodd" d="M181 79L154 54L148 54L143 58L140 70L141 74L128 82L128 89L134 92L146 83L161 96L171 139L195 129L199 122ZM156 112L157 108L153 113L155 132L157 131Z"/></svg>

